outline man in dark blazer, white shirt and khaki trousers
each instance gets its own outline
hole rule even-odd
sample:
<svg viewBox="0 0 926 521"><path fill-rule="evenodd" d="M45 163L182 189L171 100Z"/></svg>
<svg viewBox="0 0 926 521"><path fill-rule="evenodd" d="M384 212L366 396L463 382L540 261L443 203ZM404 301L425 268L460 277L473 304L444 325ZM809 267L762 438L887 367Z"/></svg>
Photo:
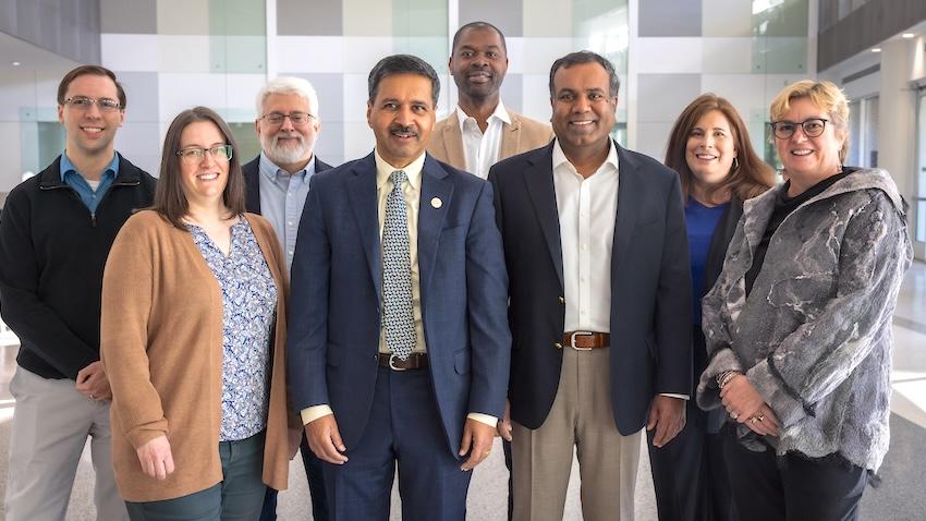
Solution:
<svg viewBox="0 0 926 521"><path fill-rule="evenodd" d="M619 82L583 51L550 71L556 140L489 180L511 277L514 519L560 520L573 448L586 520L631 519L641 429L663 446L691 389L678 175L610 138Z"/></svg>

